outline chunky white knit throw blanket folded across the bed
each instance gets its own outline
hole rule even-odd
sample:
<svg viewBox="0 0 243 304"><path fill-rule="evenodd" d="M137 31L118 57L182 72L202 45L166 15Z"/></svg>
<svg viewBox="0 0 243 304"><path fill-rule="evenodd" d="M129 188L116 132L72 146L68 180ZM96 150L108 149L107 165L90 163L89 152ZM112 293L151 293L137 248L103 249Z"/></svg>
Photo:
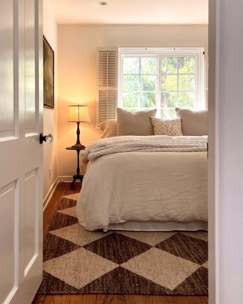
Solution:
<svg viewBox="0 0 243 304"><path fill-rule="evenodd" d="M207 151L207 136L116 136L95 140L81 154L82 163L119 152Z"/></svg>

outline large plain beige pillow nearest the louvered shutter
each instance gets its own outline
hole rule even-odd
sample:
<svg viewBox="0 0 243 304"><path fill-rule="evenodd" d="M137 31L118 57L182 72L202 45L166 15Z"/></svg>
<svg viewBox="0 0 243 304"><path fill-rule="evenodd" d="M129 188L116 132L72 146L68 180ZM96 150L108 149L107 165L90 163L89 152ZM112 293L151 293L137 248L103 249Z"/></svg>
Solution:
<svg viewBox="0 0 243 304"><path fill-rule="evenodd" d="M156 116L157 109L137 111L132 113L120 108L117 112L117 135L154 135L150 116Z"/></svg>

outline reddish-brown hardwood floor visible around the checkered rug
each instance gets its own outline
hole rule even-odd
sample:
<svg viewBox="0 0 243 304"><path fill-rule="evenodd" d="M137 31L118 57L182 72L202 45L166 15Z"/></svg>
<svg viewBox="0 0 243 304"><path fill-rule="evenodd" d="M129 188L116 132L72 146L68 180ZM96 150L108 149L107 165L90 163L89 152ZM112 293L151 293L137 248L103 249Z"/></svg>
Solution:
<svg viewBox="0 0 243 304"><path fill-rule="evenodd" d="M75 183L72 190L80 190L81 183ZM43 238L50 226L62 192L70 190L70 183L58 184L43 213ZM32 304L207 304L206 296L169 295L36 295Z"/></svg>

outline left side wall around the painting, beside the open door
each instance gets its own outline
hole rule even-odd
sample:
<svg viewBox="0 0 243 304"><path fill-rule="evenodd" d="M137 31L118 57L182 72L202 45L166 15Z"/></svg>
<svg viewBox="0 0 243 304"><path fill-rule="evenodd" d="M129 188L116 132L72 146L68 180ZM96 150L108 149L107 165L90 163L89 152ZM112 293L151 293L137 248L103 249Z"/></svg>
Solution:
<svg viewBox="0 0 243 304"><path fill-rule="evenodd" d="M44 135L53 134L52 143L43 143L44 161L43 161L43 198L45 199L51 186L57 178L57 24L54 12L49 0L43 0L43 34L50 46L54 50L54 110L44 108L43 125ZM51 178L49 178L49 168L51 168Z"/></svg>

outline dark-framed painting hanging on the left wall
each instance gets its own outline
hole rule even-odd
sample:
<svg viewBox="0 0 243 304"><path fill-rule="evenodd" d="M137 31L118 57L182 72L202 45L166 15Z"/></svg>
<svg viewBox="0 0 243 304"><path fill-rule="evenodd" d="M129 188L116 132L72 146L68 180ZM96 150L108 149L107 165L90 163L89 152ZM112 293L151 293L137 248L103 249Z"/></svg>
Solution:
<svg viewBox="0 0 243 304"><path fill-rule="evenodd" d="M43 35L43 100L44 107L54 109L54 51Z"/></svg>

